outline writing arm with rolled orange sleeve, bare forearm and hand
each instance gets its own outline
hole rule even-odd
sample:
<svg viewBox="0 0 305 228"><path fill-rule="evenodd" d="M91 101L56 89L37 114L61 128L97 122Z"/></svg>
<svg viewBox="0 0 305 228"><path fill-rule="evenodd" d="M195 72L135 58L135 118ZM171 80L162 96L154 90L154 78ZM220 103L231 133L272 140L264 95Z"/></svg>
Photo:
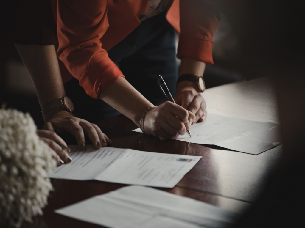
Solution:
<svg viewBox="0 0 305 228"><path fill-rule="evenodd" d="M109 27L107 1L92 1L90 5L57 1L56 21L57 54L69 72L89 96L104 100L139 126L152 103L124 79L102 48L100 39ZM185 108L165 102L149 109L142 128L155 136L173 138L184 135L195 118Z"/></svg>

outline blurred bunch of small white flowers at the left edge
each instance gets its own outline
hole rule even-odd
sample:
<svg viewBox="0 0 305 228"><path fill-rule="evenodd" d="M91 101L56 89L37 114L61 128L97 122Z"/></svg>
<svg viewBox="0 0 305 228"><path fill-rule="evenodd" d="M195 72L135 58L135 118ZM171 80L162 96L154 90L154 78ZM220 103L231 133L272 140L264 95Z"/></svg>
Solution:
<svg viewBox="0 0 305 228"><path fill-rule="evenodd" d="M29 114L0 109L0 227L20 227L41 215L56 165Z"/></svg>

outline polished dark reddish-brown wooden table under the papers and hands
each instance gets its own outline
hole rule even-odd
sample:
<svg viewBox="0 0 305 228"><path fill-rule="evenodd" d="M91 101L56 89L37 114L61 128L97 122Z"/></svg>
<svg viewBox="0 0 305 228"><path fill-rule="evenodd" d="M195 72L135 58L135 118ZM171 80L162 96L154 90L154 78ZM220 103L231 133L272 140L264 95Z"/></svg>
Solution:
<svg viewBox="0 0 305 228"><path fill-rule="evenodd" d="M214 87L207 89L204 96L208 113L278 122L274 91L268 78ZM251 155L217 146L160 140L132 132L137 126L122 115L100 121L98 125L112 140L113 147L203 156L176 187L159 189L237 212L242 212L258 197L268 170L279 160L282 150L282 146L278 146L259 155ZM52 183L55 191L50 194L44 215L34 218L34 223L24 223L23 227L101 227L56 214L54 210L126 186L60 179L52 179Z"/></svg>

